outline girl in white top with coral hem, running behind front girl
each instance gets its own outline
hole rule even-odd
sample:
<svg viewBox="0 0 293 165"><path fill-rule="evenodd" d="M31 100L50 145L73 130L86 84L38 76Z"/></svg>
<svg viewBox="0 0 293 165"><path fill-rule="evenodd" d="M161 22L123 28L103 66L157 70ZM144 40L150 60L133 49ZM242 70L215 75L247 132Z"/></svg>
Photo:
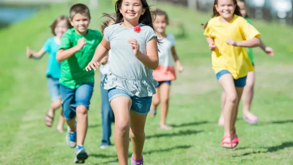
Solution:
<svg viewBox="0 0 293 165"><path fill-rule="evenodd" d="M165 11L156 9L156 18L154 27L157 30L157 35L162 38L159 47L159 67L153 71L154 78L159 85L156 86L156 94L153 96L150 115L156 115L156 108L161 102L161 129L172 129L166 125L166 116L168 112L168 100L171 81L176 79L174 61L176 62L177 70L181 73L183 67L179 61L175 50L175 37L172 34L166 34L166 26L168 25L168 15ZM174 60L174 61L173 61ZM161 98L160 98L161 97Z"/></svg>

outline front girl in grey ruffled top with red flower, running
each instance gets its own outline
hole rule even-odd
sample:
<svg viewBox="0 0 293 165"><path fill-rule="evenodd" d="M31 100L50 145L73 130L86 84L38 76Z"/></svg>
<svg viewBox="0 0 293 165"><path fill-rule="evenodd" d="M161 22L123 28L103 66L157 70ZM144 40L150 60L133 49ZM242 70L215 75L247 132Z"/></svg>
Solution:
<svg viewBox="0 0 293 165"><path fill-rule="evenodd" d="M131 163L141 165L144 126L158 85L152 76L159 65L158 41L146 0L118 0L115 11L117 19L105 28L104 38L86 70L96 70L111 49L109 72L102 85L108 90L115 114L114 141L119 164L128 164L130 134Z"/></svg>

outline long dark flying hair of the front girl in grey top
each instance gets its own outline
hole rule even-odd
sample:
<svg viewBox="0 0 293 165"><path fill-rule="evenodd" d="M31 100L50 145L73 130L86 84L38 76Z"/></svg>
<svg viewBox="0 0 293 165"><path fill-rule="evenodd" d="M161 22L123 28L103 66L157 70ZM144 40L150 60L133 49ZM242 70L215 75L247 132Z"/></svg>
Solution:
<svg viewBox="0 0 293 165"><path fill-rule="evenodd" d="M156 29L153 26L153 17L152 15L156 15L156 13L150 8L150 6L147 4L147 0L140 0L142 2L142 8L145 9L145 12L143 15L141 15L139 17L139 23L142 23L144 25L147 25L149 27L151 27L152 29L154 29L154 31L156 31ZM122 5L123 0L118 0L115 3L115 11L116 13L114 14L107 14L107 13L103 13L102 17L109 17L111 19L113 19L113 21L115 22L114 24L117 23L122 23L124 21L123 19L123 15L122 13L120 13L120 8ZM153 14L152 14L153 13ZM157 42L160 44L160 40L157 38Z"/></svg>

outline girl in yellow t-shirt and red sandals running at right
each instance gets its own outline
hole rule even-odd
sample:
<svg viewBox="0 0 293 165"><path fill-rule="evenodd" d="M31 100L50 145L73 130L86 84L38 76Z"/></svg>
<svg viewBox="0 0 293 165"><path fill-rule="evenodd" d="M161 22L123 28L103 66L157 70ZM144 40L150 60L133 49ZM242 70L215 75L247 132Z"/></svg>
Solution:
<svg viewBox="0 0 293 165"><path fill-rule="evenodd" d="M222 147L236 148L235 122L247 73L253 71L246 48L260 46L260 33L241 17L236 0L215 0L213 17L205 25L212 68L226 93Z"/></svg>

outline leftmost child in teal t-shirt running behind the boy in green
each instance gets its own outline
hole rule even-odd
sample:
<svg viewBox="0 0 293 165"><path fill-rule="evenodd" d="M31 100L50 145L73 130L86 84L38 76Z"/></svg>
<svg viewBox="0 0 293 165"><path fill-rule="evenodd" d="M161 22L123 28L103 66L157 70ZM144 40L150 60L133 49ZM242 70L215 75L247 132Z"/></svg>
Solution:
<svg viewBox="0 0 293 165"><path fill-rule="evenodd" d="M52 100L51 106L48 112L45 115L45 124L48 127L52 127L54 112L59 107L61 107L61 95L59 89L59 78L60 78L60 63L56 60L56 53L59 48L59 44L61 41L61 37L68 28L71 28L71 24L69 22L69 18L67 16L59 16L51 25L53 37L47 39L42 48L38 52L34 52L30 50L29 47L26 48L26 55L28 58L41 58L46 52L49 53L48 64L47 64L47 86L48 91ZM59 123L57 126L58 132L63 132L63 111L61 112L61 116L59 119Z"/></svg>

